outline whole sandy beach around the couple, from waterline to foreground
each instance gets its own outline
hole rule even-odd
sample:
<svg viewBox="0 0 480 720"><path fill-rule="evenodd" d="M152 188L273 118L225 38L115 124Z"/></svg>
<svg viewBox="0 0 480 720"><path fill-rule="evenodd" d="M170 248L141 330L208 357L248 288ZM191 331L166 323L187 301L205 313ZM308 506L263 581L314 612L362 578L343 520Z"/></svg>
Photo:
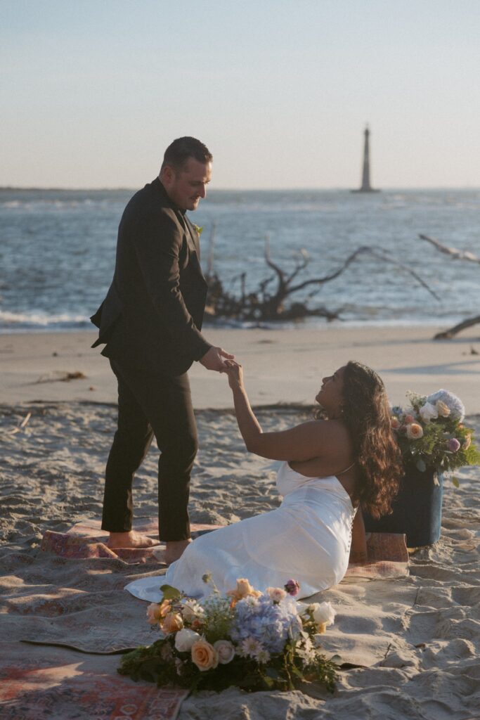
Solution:
<svg viewBox="0 0 480 720"><path fill-rule="evenodd" d="M205 334L244 364L253 404L266 406L259 410L265 429L308 418L322 375L358 359L384 377L392 402L402 402L407 390L456 392L466 405L466 423L478 437L480 330L441 342L431 340L434 333L435 328L300 328ZM101 515L116 389L108 361L89 349L93 338L89 332L0 336L1 644L12 663L25 658L53 663L59 652L55 643L70 638L81 647L83 636L83 654L63 651L67 660L62 662L73 668L70 675L78 682L105 675L114 683L119 657L89 652L98 652L101 642L103 652L150 642L145 604L122 588L135 577L155 575L158 566L58 557L40 549L45 532L65 533L74 523ZM76 373L85 377L65 379ZM225 378L196 365L191 385L201 445L192 475L192 521L225 524L276 507L275 463L245 451ZM152 448L137 475L135 516L140 521L156 515L157 460ZM412 555L409 575L351 578L320 594L338 613L325 636L325 647L343 662L334 696L315 686L252 696L235 689L201 693L184 699L178 720L478 719L479 469L456 475L459 489L445 482L441 539ZM89 651L90 637L96 650L90 646ZM68 706L67 680L52 676L49 683L38 699L35 720L87 717ZM38 694L35 681L23 685L23 691ZM45 699L52 693L55 711ZM3 704L7 719L33 717L19 709L22 703L14 696ZM146 706L135 712L114 714L111 709L103 716L173 717Z"/></svg>

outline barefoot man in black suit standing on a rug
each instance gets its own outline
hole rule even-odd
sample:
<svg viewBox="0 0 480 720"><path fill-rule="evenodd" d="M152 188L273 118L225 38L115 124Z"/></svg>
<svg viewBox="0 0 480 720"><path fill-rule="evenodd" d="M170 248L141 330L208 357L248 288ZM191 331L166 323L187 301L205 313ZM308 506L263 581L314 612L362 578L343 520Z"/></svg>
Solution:
<svg viewBox="0 0 480 720"><path fill-rule="evenodd" d="M207 194L212 155L195 138L174 140L158 178L137 192L119 225L117 260L107 297L91 318L94 346L106 343L118 380L118 428L105 472L102 529L111 547L153 541L132 531L132 480L155 439L158 525L166 561L190 542L190 472L198 438L187 370L199 361L224 372L232 358L201 335L207 282L199 233L186 216Z"/></svg>

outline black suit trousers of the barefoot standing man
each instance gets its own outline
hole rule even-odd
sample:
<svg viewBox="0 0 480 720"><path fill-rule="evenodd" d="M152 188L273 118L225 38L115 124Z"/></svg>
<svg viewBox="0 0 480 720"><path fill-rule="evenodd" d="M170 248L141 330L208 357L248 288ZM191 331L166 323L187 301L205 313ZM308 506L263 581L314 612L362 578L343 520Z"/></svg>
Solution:
<svg viewBox="0 0 480 720"><path fill-rule="evenodd" d="M118 427L105 472L101 528L132 529L132 482L153 436L158 461L158 531L163 542L190 537L190 472L198 450L189 377L132 368L111 360L118 380Z"/></svg>

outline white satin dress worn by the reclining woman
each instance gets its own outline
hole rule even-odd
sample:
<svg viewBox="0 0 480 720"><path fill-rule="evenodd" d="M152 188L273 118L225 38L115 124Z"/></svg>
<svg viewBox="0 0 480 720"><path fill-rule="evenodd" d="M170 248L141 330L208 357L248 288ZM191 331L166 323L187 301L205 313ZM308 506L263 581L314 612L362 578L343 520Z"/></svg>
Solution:
<svg viewBox="0 0 480 720"><path fill-rule="evenodd" d="M346 472L346 471L344 471ZM306 477L281 464L276 480L279 508L219 528L194 540L161 577L127 585L132 595L158 602L164 583L200 598L209 572L221 593L246 577L257 590L283 588L293 578L306 598L340 582L348 567L356 509L337 477Z"/></svg>

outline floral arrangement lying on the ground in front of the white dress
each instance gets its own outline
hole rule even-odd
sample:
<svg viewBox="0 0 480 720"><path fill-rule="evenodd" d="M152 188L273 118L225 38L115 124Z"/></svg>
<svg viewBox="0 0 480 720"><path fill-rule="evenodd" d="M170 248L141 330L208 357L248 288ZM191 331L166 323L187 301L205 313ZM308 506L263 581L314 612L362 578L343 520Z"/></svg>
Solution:
<svg viewBox="0 0 480 720"><path fill-rule="evenodd" d="M240 579L226 595L210 575L203 580L212 591L199 601L171 585L160 588L162 602L147 608L160 639L126 654L122 675L192 691L291 690L294 680L315 680L333 691L337 665L318 642L335 618L330 603L298 603L295 580L260 593Z"/></svg>

